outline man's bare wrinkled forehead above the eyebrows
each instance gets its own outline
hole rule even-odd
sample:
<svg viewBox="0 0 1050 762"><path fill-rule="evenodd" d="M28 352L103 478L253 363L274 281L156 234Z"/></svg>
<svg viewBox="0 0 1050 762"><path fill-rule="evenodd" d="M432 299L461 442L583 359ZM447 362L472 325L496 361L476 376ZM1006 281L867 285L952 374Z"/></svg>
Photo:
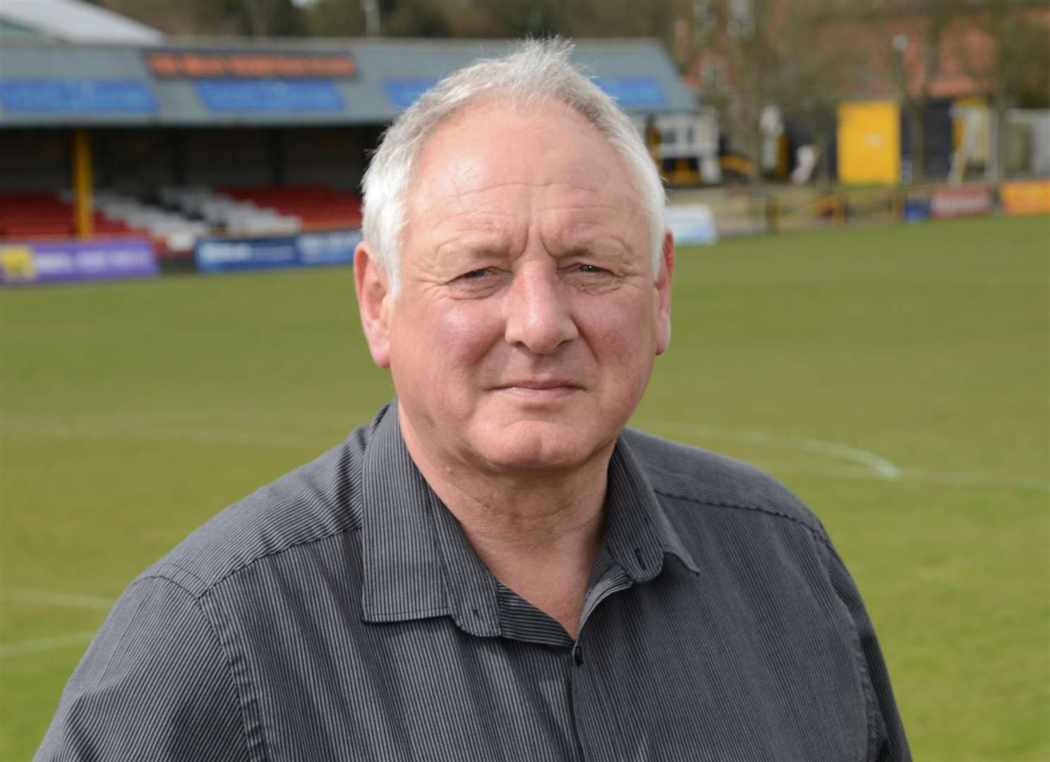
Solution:
<svg viewBox="0 0 1050 762"><path fill-rule="evenodd" d="M447 259L449 252L457 261L479 258L476 252L510 254L529 239L551 254L648 253L638 239L648 221L624 157L564 104L474 105L435 129L415 174L405 235L426 241L427 259ZM414 249L402 256L424 253Z"/></svg>

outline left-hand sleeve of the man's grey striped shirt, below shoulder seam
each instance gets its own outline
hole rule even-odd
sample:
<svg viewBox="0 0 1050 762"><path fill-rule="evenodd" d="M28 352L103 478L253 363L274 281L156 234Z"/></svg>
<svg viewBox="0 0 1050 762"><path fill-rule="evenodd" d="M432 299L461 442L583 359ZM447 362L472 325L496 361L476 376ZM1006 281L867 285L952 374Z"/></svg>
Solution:
<svg viewBox="0 0 1050 762"><path fill-rule="evenodd" d="M196 598L131 585L66 684L37 760L248 759L237 692Z"/></svg>

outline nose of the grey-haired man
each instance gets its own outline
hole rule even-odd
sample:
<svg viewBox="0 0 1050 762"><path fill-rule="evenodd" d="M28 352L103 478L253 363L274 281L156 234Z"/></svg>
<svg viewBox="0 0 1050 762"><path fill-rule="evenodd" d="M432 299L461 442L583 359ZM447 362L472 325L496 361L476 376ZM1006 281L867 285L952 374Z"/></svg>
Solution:
<svg viewBox="0 0 1050 762"><path fill-rule="evenodd" d="M514 273L506 292L504 338L537 355L549 355L580 335L572 319L569 296L558 273L545 268L523 268Z"/></svg>

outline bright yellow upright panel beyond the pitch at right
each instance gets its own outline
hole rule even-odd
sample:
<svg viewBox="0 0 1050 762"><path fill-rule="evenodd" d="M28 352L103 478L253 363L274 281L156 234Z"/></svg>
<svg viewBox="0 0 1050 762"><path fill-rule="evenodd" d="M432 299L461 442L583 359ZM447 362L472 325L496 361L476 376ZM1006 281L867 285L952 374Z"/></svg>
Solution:
<svg viewBox="0 0 1050 762"><path fill-rule="evenodd" d="M839 181L852 185L901 178L901 110L892 101L839 105Z"/></svg>

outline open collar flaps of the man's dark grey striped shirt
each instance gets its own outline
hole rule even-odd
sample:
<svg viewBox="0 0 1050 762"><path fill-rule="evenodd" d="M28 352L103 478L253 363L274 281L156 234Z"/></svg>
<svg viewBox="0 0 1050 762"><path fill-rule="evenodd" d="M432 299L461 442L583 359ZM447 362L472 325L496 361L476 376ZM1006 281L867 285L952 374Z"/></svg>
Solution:
<svg viewBox="0 0 1050 762"><path fill-rule="evenodd" d="M416 468L396 401L373 421L361 502L365 621L450 615L474 635L500 634L497 580ZM609 461L604 545L635 583L657 576L665 553L696 571L623 438Z"/></svg>

